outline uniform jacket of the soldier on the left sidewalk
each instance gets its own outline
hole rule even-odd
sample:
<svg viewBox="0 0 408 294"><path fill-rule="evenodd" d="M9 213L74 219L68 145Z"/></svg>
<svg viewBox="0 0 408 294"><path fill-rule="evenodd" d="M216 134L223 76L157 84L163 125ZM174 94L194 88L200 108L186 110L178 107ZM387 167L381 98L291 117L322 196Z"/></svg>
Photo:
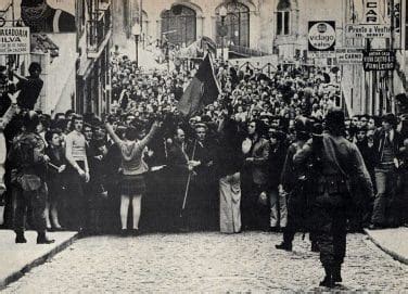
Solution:
<svg viewBox="0 0 408 294"><path fill-rule="evenodd" d="M47 172L44 149L44 141L34 132L23 132L13 140L9 153L14 167L12 181L23 190L34 191L42 184Z"/></svg>

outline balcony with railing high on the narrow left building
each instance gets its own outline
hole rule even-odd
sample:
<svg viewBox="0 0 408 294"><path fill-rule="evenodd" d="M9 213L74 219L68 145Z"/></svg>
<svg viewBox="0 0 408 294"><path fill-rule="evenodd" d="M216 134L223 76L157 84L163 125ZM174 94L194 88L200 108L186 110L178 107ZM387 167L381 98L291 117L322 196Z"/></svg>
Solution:
<svg viewBox="0 0 408 294"><path fill-rule="evenodd" d="M111 38L112 16L110 3L102 2L90 13L87 21L87 53L90 57L100 54Z"/></svg>

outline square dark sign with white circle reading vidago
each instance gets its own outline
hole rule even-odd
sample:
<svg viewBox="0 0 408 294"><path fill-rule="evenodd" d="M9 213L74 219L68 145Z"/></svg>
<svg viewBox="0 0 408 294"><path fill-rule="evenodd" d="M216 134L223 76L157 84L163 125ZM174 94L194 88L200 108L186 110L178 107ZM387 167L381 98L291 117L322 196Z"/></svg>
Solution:
<svg viewBox="0 0 408 294"><path fill-rule="evenodd" d="M335 48L335 22L321 21L309 22L308 26L308 51L309 52L334 52Z"/></svg>

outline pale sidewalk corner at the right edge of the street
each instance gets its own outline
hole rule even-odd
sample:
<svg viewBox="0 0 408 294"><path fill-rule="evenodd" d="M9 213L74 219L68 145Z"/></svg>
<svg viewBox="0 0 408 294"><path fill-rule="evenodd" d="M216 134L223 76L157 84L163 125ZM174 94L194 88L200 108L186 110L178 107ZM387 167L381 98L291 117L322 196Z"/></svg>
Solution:
<svg viewBox="0 0 408 294"><path fill-rule="evenodd" d="M394 259L408 265L408 228L367 230L370 240Z"/></svg>

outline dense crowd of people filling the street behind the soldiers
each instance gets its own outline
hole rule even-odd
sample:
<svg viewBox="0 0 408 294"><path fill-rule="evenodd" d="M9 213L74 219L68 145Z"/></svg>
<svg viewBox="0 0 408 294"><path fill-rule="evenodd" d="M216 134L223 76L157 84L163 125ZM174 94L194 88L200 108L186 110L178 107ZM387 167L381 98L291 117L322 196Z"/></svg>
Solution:
<svg viewBox="0 0 408 294"><path fill-rule="evenodd" d="M113 102L104 117L74 111L34 114L37 98L27 95L27 89L38 93L40 68L34 66L29 78L16 76L20 85L31 81L20 88L16 82L15 90L22 91L16 104L10 103L7 90L2 92L0 115L2 122L11 122L0 126L5 135L0 143L10 153L15 138L27 130L24 124L36 124L29 129L34 127L36 138L44 144L40 178L48 187L47 230L124 235L143 229L271 230L284 231L282 248L291 250L288 244L293 234L305 229L299 228L305 222L291 213L290 197L298 180L297 171L288 171L293 149L324 129L328 112L340 100L339 87L330 84L335 78L326 68L278 66L268 77L256 68L217 63L222 92L186 119L177 103L196 67L149 72L126 55L114 54ZM5 73L5 67L1 69ZM12 119L9 107L18 108ZM301 117L313 127L303 128ZM344 136L358 146L375 191L373 197L367 197L359 187L353 189L347 230L407 223L408 140L400 135L398 117L355 115L344 125ZM154 133L149 131L151 126L155 126ZM1 152L3 164L4 150ZM21 197L16 191L22 189L12 179L15 161L9 156L0 183L7 188L2 197L10 228ZM305 217L307 208L298 205ZM30 204L27 209L26 222L34 228L36 207ZM16 241L24 241L22 231L20 223Z"/></svg>

